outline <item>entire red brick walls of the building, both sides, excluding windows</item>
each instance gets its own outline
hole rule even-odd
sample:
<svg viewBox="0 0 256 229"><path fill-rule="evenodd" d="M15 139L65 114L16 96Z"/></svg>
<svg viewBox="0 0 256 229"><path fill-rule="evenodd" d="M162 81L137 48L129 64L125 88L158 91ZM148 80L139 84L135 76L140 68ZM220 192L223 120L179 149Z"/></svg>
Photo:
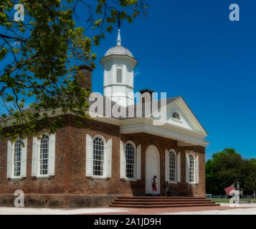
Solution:
<svg viewBox="0 0 256 229"><path fill-rule="evenodd" d="M93 137L103 135L105 140L113 140L112 177L107 180L92 179L85 176L86 134ZM133 140L136 146L141 144L141 180L120 180L120 139L123 142ZM28 138L27 177L24 180L6 178L7 140L0 140L0 194L12 194L23 190L26 194L72 194L72 195L144 195L145 194L145 160L146 148L155 145L160 152L161 194L165 190L165 149L181 152L181 183L171 184L174 195L204 195L204 147L177 147L175 140L139 133L120 135L119 127L95 120L85 120L84 127L72 125L72 117L67 126L57 130L55 175L50 179L35 179L32 169L32 137ZM199 155L199 184L188 185L185 182L185 153L193 151ZM97 201L96 201L97 203Z"/></svg>

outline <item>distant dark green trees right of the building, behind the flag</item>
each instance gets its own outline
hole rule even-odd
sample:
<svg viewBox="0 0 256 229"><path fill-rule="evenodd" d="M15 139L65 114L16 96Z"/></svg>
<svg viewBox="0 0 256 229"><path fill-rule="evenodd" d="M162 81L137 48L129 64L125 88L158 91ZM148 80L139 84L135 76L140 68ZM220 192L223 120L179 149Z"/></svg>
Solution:
<svg viewBox="0 0 256 229"><path fill-rule="evenodd" d="M244 195L256 190L256 158L245 159L234 149L212 155L206 163L206 192L225 195L224 188L240 182Z"/></svg>

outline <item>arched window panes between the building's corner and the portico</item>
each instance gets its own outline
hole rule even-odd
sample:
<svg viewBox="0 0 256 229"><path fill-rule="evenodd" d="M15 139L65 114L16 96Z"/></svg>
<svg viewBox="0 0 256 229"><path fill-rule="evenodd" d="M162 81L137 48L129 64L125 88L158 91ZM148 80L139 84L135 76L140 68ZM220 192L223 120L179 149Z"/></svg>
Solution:
<svg viewBox="0 0 256 229"><path fill-rule="evenodd" d="M93 175L103 176L104 171L104 142L100 137L93 140Z"/></svg>

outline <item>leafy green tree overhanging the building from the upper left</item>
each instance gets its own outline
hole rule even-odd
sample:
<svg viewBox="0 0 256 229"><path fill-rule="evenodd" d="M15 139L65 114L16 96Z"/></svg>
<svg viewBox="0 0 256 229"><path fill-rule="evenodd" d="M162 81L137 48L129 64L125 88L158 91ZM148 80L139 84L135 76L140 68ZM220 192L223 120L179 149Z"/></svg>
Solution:
<svg viewBox="0 0 256 229"><path fill-rule="evenodd" d="M16 21L15 4L23 4L25 20ZM87 14L87 27L76 26L77 7ZM1 137L36 135L42 127L54 132L63 125L62 114L87 117L90 89L77 83L80 62L95 67L97 55L91 52L113 30L118 19L132 22L140 13L146 16L141 0L1 0L0 72ZM95 30L95 36L85 33ZM32 102L30 109L24 109ZM50 115L58 112L54 120ZM8 118L12 127L6 128Z"/></svg>

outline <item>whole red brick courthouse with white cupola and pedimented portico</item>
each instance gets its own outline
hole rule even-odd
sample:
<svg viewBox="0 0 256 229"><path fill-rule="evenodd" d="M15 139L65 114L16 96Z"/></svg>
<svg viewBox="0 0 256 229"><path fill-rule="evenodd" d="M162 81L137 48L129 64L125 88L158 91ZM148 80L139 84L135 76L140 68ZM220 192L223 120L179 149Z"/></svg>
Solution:
<svg viewBox="0 0 256 229"><path fill-rule="evenodd" d="M131 93L137 60L121 46L120 30L100 63L104 98L138 109ZM82 65L80 71L91 87L93 70ZM27 206L108 205L119 195L151 195L154 175L158 195L169 189L173 196L203 197L207 132L182 97L166 99L164 108L163 125L154 125L153 114L104 115L77 127L67 114L54 135L45 129L37 137L0 140L0 204L13 205L14 191L23 190Z"/></svg>

